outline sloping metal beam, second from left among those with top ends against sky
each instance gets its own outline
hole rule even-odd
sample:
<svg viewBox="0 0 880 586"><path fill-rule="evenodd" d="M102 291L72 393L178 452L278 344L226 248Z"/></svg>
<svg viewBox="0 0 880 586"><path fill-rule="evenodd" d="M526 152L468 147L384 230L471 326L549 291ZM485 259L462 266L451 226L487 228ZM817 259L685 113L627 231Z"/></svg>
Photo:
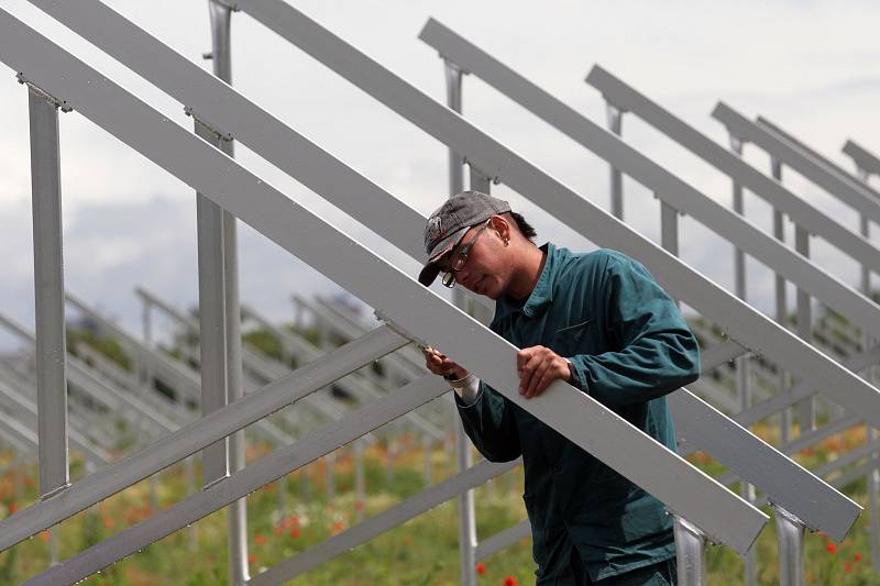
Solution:
<svg viewBox="0 0 880 586"><path fill-rule="evenodd" d="M875 273L880 273L880 248L801 199L781 183L759 172L598 65L593 66L586 82L600 90L615 108L632 112L730 177L737 185L789 214L798 225L826 240Z"/></svg>

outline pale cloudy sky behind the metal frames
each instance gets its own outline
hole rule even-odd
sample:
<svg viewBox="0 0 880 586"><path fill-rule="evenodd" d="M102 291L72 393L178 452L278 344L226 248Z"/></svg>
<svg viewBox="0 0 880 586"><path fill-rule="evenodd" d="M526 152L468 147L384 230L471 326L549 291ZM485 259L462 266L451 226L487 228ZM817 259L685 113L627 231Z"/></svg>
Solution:
<svg viewBox="0 0 880 586"><path fill-rule="evenodd" d="M107 1L141 27L209 69L207 1ZM417 36L433 16L550 91L590 120L605 124L602 96L584 82L594 64L657 101L714 141L724 128L710 117L718 100L740 113L765 115L851 169L840 152L848 139L880 154L880 4L868 1L378 1L290 3L432 98L446 98L437 53ZM0 8L98 68L185 128L183 104L24 0ZM447 196L444 145L393 113L337 74L287 44L244 13L233 14L233 86L287 125L422 214ZM2 55L0 55L2 60ZM6 75L3 75L6 74ZM0 257L6 270L0 311L33 328L28 99L0 65ZM463 88L464 115L539 168L603 209L609 208L605 162L550 128L474 76ZM180 308L197 305L196 206L193 190L76 112L61 115L65 284L72 292L140 332L141 286ZM707 196L730 204L730 181L635 117L624 140ZM755 146L746 159L767 172ZM242 145L237 158L288 197L404 270L418 266L369 229L263 162ZM858 217L833 196L785 170L801 197L858 230ZM880 187L875 179L875 187ZM538 229L572 250L594 243L551 219L505 185L508 199ZM659 242L659 204L649 190L625 181L626 221ZM747 196L747 215L771 230L771 209ZM872 240L880 245L875 226ZM791 226L789 234L791 240ZM337 295L329 279L240 224L242 300L278 321L294 317L293 294ZM858 265L814 239L816 263L858 284ZM684 262L733 288L733 251L705 226L681 221ZM749 300L772 308L772 274L748 265ZM790 299L793 299L790 295ZM73 314L73 310L70 310ZM165 324L167 327L167 324ZM160 323L157 328L162 328ZM0 345L9 341L0 338Z"/></svg>

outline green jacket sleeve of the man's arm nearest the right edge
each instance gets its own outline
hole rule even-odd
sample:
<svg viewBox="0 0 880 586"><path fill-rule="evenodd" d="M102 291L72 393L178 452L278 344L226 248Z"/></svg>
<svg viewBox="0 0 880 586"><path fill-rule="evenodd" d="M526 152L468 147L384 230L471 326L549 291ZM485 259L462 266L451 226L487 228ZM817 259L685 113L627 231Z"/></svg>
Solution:
<svg viewBox="0 0 880 586"><path fill-rule="evenodd" d="M616 408L662 397L700 378L696 336L648 269L610 256L604 277L604 321L619 350L570 356L582 390Z"/></svg>

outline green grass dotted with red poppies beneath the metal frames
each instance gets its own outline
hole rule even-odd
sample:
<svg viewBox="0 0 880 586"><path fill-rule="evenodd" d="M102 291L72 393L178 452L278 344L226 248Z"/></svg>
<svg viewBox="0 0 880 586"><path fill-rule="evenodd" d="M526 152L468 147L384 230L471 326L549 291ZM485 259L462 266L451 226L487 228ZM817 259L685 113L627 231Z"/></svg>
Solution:
<svg viewBox="0 0 880 586"><path fill-rule="evenodd" d="M772 439L772 428L757 427L759 434ZM865 429L829 438L795 457L811 467L836 457L842 451L865 440ZM358 522L400 502L425 488L424 452L413 438L405 436L403 451L388 462L384 445L365 451L366 496L355 500L352 451L343 449L334 464L336 498L326 498L326 463L323 460L287 477L286 491L279 495L279 483L264 486L248 497L250 572L263 568L302 552L328 537L345 531ZM264 454L265 446L250 449L249 460ZM4 455L7 460L9 454ZM723 467L703 454L690 460L711 474ZM453 474L454 457L438 449L431 454L435 482ZM0 464L2 461L0 460ZM75 463L78 466L78 463ZM391 464L393 474L388 474ZM75 469L78 467L75 466ZM7 472L0 476L0 516L35 499L31 467ZM304 476L308 477L310 498L304 499ZM20 484L16 488L15 484ZM185 498L186 476L182 465L163 473L157 482L160 508ZM521 469L496 478L492 486L475 491L477 538L484 540L525 518L521 501ZM855 500L866 502L864 482L847 487ZM283 499L280 497L284 497ZM279 504L285 510L279 513ZM767 512L770 512L769 510ZM148 483L142 482L64 521L53 529L62 560L113 535L153 511ZM771 521L772 523L772 521ZM864 513L847 539L833 543L827 537L811 533L805 541L806 582L811 585L880 584L869 560L869 517ZM756 542L759 584L778 584L776 532L772 524ZM454 500L446 502L407 521L381 537L327 562L294 579L294 584L340 585L447 585L459 583L458 512ZM44 532L0 553L0 584L16 584L38 574L48 565L50 538ZM90 577L95 585L215 585L228 583L226 512L218 511L193 528L150 545L142 552ZM498 552L480 565L480 584L531 584L535 564L530 540L524 539ZM743 562L729 549L711 546L707 552L710 584L741 583Z"/></svg>

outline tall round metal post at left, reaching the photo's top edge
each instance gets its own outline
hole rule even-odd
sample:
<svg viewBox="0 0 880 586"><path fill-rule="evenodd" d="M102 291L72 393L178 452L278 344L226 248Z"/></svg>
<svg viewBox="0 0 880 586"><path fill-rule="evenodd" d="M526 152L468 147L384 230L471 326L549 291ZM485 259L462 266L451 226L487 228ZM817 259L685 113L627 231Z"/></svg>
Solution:
<svg viewBox="0 0 880 586"><path fill-rule="evenodd" d="M213 63L213 75L232 84L232 58L231 58L231 14L232 10L220 2L208 1L208 12L211 21L211 58ZM231 140L220 139L217 146L229 156L234 155ZM218 208L219 210L219 208ZM222 402L233 402L244 396L242 389L241 371L241 309L239 303L239 269L238 269L238 237L235 228L235 217L231 213L219 210L220 215L220 242L219 250L222 272L219 277L222 279L220 289L222 312L221 323L217 324L223 329L222 349L222 373L224 377ZM217 244L217 243L216 243ZM201 279L200 279L201 283ZM199 291L201 294L201 291ZM200 295L201 298L201 295ZM202 344L205 341L205 330L202 328ZM205 353L202 346L202 355ZM220 365L218 373L220 372ZM205 363L202 362L202 371ZM202 395L205 394L205 378L202 376ZM220 399L220 397L217 397ZM215 407L217 408L217 407ZM218 460L227 460L224 467L228 472L238 472L244 467L244 430L240 430L228 439L228 453L223 456L218 455ZM215 474L219 474L219 468ZM219 476L218 476L219 477ZM206 479L209 477L206 476ZM211 477L212 479L215 477ZM238 499L229 506L227 511L229 521L229 579L230 584L241 585L250 579L248 568L248 505L246 499Z"/></svg>

